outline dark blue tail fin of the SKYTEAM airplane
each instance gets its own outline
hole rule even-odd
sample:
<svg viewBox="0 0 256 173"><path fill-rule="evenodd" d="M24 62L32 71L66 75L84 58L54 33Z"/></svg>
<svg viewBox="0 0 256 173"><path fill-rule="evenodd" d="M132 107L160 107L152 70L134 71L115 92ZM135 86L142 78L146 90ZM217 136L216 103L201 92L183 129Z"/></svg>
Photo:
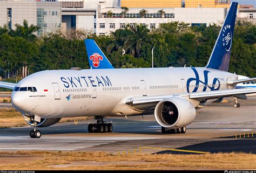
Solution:
<svg viewBox="0 0 256 173"><path fill-rule="evenodd" d="M206 65L207 68L214 68L228 71L230 53L234 34L235 17L237 16L237 2L232 2L227 13L223 26L221 27L218 39L212 50L211 57Z"/></svg>

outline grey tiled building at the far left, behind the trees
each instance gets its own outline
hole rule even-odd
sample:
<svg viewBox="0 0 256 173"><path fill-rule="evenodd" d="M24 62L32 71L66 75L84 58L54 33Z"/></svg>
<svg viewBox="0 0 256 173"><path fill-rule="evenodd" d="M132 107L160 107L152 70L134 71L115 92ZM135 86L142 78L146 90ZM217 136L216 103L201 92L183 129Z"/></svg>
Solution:
<svg viewBox="0 0 256 173"><path fill-rule="evenodd" d="M15 24L39 26L37 35L56 31L61 24L61 4L57 0L0 0L0 26L8 25L15 29Z"/></svg>

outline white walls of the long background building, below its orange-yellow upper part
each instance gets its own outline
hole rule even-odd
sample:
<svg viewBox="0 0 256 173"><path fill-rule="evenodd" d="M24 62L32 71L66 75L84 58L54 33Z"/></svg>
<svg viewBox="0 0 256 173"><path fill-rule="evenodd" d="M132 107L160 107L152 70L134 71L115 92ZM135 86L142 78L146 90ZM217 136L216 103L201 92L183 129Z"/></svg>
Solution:
<svg viewBox="0 0 256 173"><path fill-rule="evenodd" d="M135 23L147 25L150 29L158 27L160 23L179 21L191 25L210 25L223 23L227 8L163 8L165 15L161 16L158 10L162 8L144 8L146 16L140 17L142 8L130 8L125 15L121 16L120 8L122 0L59 0L62 2L62 28L69 30L84 29L96 34L110 34L126 24ZM255 9L239 9L238 18L255 21ZM108 11L112 15L107 15ZM254 11L254 12L253 12Z"/></svg>

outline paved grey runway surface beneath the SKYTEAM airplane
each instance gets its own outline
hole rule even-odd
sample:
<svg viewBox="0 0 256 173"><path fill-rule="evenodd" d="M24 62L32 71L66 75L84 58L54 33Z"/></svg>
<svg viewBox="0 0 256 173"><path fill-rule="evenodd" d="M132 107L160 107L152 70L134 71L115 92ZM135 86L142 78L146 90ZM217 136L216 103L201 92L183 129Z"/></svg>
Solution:
<svg viewBox="0 0 256 173"><path fill-rule="evenodd" d="M120 153L201 154L243 151L256 153L256 98L239 100L240 108L227 103L212 103L197 110L196 120L185 134L161 134L153 115L108 117L113 133L87 133L95 120L57 123L41 128L40 139L31 139L31 127L0 129L0 150L107 151ZM235 139L237 134L237 139ZM239 138L241 134L241 139ZM253 135L253 137L252 137Z"/></svg>

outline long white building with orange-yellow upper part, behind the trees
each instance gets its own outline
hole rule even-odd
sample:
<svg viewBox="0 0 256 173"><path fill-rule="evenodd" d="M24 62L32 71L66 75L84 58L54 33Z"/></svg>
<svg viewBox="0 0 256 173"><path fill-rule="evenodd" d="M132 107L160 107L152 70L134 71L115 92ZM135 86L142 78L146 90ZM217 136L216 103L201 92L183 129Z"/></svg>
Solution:
<svg viewBox="0 0 256 173"><path fill-rule="evenodd" d="M126 24L134 26L136 23L147 25L150 29L157 28L160 23L171 21L207 26L213 23L221 24L230 7L230 0L59 0L59 2L62 3L64 30L83 29L100 35L107 35L111 31L124 28ZM245 7L248 8L250 5ZM144 10L144 13L141 10ZM164 13L159 13L159 10L163 10ZM253 10L239 9L238 17L254 21Z"/></svg>

